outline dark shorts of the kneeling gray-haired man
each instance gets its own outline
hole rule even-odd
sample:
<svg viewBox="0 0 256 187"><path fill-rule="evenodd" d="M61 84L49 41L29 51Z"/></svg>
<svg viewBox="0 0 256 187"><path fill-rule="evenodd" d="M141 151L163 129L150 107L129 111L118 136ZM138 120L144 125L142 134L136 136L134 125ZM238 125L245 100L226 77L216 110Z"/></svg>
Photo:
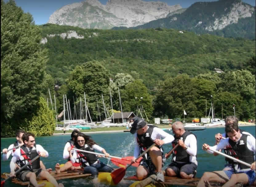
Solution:
<svg viewBox="0 0 256 187"><path fill-rule="evenodd" d="M172 162L167 168L166 170L170 168L172 169L177 176L180 175L180 172L184 172L187 175L190 175L192 173L194 173L194 171L197 168L197 165L194 163L184 163L184 162Z"/></svg>

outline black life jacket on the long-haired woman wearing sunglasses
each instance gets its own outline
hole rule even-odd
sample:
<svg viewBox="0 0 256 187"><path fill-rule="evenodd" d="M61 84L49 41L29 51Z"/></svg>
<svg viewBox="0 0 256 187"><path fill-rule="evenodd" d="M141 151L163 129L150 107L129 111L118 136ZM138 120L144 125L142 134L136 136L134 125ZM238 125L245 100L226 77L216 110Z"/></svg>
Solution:
<svg viewBox="0 0 256 187"><path fill-rule="evenodd" d="M94 149L91 148L88 144L85 144L83 147L80 147L78 149L94 152ZM79 155L78 160L82 167L87 166L86 163L88 163L90 166L98 160L98 158L95 154L79 152L79 151L77 151L77 154Z"/></svg>

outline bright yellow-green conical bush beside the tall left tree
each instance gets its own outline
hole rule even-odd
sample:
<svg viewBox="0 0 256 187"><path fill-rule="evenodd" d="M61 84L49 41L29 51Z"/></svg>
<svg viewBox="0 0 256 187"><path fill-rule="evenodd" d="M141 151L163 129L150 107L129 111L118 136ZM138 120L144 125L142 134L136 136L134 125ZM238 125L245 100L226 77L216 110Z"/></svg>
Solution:
<svg viewBox="0 0 256 187"><path fill-rule="evenodd" d="M55 130L55 119L53 111L47 107L46 100L40 97L38 109L31 121L28 122L27 131L36 136L50 136Z"/></svg>

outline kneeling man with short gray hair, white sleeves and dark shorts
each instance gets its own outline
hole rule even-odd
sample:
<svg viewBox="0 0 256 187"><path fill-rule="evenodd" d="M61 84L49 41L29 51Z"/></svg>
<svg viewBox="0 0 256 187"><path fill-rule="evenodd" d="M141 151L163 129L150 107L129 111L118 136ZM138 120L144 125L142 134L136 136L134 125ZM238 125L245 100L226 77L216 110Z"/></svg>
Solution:
<svg viewBox="0 0 256 187"><path fill-rule="evenodd" d="M174 135L173 147L179 146L173 152L171 164L166 169L166 175L190 179L195 176L197 168L197 138L190 131L185 131L180 121L172 125Z"/></svg>

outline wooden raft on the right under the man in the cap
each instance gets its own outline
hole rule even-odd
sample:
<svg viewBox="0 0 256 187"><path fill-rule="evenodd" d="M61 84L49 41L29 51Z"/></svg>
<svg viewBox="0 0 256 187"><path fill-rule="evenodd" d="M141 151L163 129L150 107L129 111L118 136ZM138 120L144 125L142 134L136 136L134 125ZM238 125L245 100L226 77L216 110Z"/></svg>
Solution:
<svg viewBox="0 0 256 187"><path fill-rule="evenodd" d="M132 180L132 181L139 181L138 178L136 176L133 177L126 177L124 178L125 180ZM196 187L198 182L199 182L200 178L195 177L195 178L191 178L191 179L183 179L183 178L179 178L179 177L168 177L165 176L165 182L156 182L156 183L160 183L160 184L166 184L166 185L178 185L178 186L193 186ZM212 187L221 187L223 184L219 183L219 182L210 182L210 185ZM236 184L234 187L242 187L242 184Z"/></svg>

